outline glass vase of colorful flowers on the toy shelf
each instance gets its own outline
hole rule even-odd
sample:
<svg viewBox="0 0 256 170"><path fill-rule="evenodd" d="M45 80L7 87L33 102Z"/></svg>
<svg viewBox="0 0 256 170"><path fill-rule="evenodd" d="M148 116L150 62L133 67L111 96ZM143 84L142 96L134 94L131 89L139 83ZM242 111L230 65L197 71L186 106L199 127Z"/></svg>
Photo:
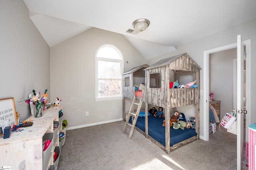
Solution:
<svg viewBox="0 0 256 170"><path fill-rule="evenodd" d="M26 103L30 103L30 101L32 101L34 105L34 117L42 117L43 116L42 111L46 103L46 99L48 99L48 95L46 94L46 92L47 92L47 89L45 90L44 94L41 97L39 97L38 95L36 95L36 91L33 90L34 96L28 99L23 99L19 102L24 101Z"/></svg>

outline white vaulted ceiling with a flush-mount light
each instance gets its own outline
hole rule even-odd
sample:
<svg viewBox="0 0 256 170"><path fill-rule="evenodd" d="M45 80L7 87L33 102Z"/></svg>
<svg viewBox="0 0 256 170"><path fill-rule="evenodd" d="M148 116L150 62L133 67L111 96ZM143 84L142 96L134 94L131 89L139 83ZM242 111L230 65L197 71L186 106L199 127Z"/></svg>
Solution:
<svg viewBox="0 0 256 170"><path fill-rule="evenodd" d="M92 27L123 34L150 59L256 18L256 0L24 0L50 47ZM143 32L127 33L139 18Z"/></svg>

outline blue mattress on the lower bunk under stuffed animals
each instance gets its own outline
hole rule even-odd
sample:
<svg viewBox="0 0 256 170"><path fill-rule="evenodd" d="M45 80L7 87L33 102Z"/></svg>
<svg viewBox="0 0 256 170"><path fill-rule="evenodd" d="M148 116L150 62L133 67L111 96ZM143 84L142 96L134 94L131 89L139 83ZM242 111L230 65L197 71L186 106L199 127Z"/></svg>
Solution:
<svg viewBox="0 0 256 170"><path fill-rule="evenodd" d="M129 122L131 123L131 117ZM162 126L164 118L148 116L148 135L165 146L165 127ZM145 117L138 117L136 127L145 132ZM193 128L174 129L170 127L170 146L196 136L196 130Z"/></svg>

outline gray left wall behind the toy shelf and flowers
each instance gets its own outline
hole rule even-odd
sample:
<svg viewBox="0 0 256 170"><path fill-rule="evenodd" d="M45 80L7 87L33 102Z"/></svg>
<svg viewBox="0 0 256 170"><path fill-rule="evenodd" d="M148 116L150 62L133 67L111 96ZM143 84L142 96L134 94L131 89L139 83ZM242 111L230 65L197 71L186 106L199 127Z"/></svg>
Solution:
<svg viewBox="0 0 256 170"><path fill-rule="evenodd" d="M29 18L22 0L0 1L0 99L14 97L22 120L31 116L32 90L50 92L50 48Z"/></svg>

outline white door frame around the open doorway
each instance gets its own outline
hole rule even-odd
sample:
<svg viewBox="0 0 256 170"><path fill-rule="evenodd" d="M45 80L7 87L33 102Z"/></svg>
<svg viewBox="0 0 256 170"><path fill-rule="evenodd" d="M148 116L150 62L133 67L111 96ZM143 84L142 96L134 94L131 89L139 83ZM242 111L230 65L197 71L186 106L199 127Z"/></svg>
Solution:
<svg viewBox="0 0 256 170"><path fill-rule="evenodd" d="M243 41L244 45L246 45L246 141L248 141L248 126L251 125L251 40ZM216 47L213 49L209 49L204 51L204 77L203 77L203 140L209 140L209 76L210 76L210 53L215 53L218 51L224 51L226 49L236 48L237 43L232 43L229 45L224 45L222 47ZM232 109L232 108L230 108ZM235 108L234 108L235 109ZM231 111L231 110L230 110ZM222 119L220 117L220 119Z"/></svg>

